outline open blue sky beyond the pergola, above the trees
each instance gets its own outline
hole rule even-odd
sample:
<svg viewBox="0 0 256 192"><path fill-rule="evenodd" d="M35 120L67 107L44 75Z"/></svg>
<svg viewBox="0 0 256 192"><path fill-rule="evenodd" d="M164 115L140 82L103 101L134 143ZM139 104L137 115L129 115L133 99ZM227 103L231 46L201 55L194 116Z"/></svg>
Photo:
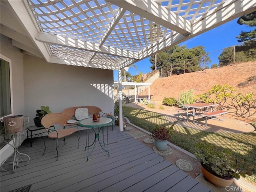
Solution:
<svg viewBox="0 0 256 192"><path fill-rule="evenodd" d="M188 48L193 48L194 46L200 45L204 46L206 52L210 53L209 56L212 61L211 64L218 64L218 56L222 52L221 49L239 44L236 36L238 36L241 31L250 31L254 29L246 25L239 25L236 22L237 19L234 19L208 32L205 32L185 42L182 42L180 46L186 45ZM136 73L138 74L142 72L143 74L145 74L151 71L151 64L149 62L149 58L145 58L144 60L136 62L135 65L138 68L137 71L134 67L131 67L128 70L128 72L133 76L136 75ZM114 70L114 80L118 80L118 71L116 70Z"/></svg>

